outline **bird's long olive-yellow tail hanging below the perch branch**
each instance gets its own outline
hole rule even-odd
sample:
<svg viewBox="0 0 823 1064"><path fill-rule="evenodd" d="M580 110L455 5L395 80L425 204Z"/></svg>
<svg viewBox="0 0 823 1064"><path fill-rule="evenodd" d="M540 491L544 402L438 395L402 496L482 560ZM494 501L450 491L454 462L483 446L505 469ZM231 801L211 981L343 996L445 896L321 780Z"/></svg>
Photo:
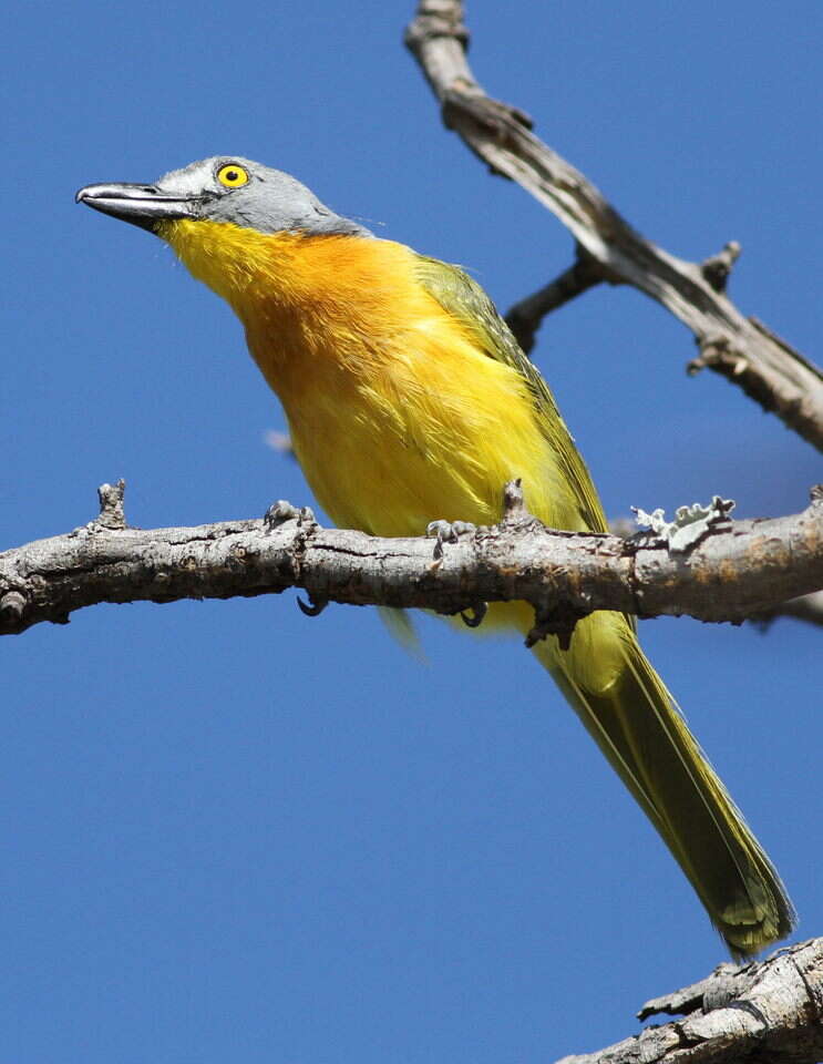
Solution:
<svg viewBox="0 0 823 1064"><path fill-rule="evenodd" d="M568 651L535 646L655 825L737 959L784 938L794 910L780 877L617 613L595 613Z"/></svg>

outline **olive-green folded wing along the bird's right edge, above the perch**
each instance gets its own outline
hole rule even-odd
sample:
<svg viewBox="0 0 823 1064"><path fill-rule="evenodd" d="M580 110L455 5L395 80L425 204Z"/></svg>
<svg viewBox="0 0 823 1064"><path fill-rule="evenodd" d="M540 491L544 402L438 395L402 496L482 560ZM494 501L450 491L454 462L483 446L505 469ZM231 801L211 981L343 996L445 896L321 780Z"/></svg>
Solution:
<svg viewBox="0 0 823 1064"><path fill-rule="evenodd" d="M537 408L541 429L568 483L574 488L583 519L591 531L607 531L606 518L589 472L560 417L548 385L523 352L486 293L459 266L441 263L436 258L419 255L416 273L426 291L447 314L460 321L485 355L505 362L523 377Z"/></svg>

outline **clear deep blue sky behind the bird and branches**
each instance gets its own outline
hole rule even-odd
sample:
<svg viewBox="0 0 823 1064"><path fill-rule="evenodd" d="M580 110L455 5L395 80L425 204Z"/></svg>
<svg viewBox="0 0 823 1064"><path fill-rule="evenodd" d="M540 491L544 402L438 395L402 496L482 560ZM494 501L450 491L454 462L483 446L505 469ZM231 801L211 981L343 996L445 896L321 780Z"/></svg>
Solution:
<svg viewBox="0 0 823 1064"><path fill-rule="evenodd" d="M572 242L440 124L410 3L19 7L7 25L0 544L127 480L151 528L310 502L228 308L147 234L73 204L215 153L288 170L502 308ZM820 358L813 0L474 3L490 91L642 232L743 245L732 294ZM9 38L10 34L10 38ZM795 512L817 456L690 335L598 289L537 360L607 511L720 493ZM439 514L432 514L436 518ZM682 876L516 642L294 596L110 606L2 644L0 1060L551 1061L632 1030L723 960ZM820 891L820 634L649 622L642 637L801 914Z"/></svg>

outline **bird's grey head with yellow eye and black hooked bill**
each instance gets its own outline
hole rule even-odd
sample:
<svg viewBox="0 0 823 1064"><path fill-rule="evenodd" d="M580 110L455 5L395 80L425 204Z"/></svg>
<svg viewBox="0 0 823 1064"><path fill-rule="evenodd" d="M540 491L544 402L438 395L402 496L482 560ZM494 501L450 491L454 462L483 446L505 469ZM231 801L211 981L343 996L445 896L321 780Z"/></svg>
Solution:
<svg viewBox="0 0 823 1064"><path fill-rule="evenodd" d="M151 185L86 185L78 203L150 232L173 218L222 222L258 233L371 236L335 214L290 174L240 155L215 155L173 170Z"/></svg>

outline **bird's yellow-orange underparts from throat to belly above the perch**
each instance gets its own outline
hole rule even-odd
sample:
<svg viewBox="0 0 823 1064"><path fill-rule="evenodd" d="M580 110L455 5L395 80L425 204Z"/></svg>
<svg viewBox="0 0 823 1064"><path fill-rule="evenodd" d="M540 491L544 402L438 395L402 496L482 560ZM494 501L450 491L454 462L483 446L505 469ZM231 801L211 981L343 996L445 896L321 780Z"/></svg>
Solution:
<svg viewBox="0 0 823 1064"><path fill-rule="evenodd" d="M516 370L477 349L400 244L172 222L161 233L234 307L318 501L342 526L418 535L488 524L522 477L533 512L577 526Z"/></svg>

